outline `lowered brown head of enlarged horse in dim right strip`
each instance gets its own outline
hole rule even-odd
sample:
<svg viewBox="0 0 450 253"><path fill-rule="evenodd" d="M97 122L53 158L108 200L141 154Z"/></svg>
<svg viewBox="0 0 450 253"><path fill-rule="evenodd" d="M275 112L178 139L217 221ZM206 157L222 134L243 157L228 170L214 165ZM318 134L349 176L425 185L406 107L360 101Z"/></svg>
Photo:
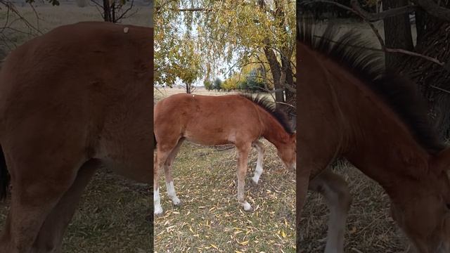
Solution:
<svg viewBox="0 0 450 253"><path fill-rule="evenodd" d="M425 176L405 183L404 200L391 204L392 218L416 252L450 252L450 150L430 159Z"/></svg>

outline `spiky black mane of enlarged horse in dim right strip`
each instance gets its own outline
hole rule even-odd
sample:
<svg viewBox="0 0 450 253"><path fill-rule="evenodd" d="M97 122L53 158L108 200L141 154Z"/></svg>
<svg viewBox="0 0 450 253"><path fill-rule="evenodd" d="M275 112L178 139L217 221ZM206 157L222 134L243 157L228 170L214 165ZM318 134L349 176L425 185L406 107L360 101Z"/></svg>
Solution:
<svg viewBox="0 0 450 253"><path fill-rule="evenodd" d="M437 153L444 144L437 139L427 115L427 105L418 87L407 77L385 70L384 54L374 51L373 44L355 30L339 35L338 27L329 24L318 37L311 20L302 20L297 41L309 46L340 66L345 67L366 84L406 124L416 141L430 153Z"/></svg>

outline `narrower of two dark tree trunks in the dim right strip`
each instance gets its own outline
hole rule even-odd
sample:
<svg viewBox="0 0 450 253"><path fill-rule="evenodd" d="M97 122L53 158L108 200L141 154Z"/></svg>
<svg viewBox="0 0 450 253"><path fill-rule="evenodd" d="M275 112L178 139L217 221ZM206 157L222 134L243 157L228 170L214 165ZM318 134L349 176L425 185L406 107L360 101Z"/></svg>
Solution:
<svg viewBox="0 0 450 253"><path fill-rule="evenodd" d="M408 5L408 0L383 0L383 11ZM411 22L409 14L401 14L383 20L385 26L385 46L388 48L403 48L412 51ZM395 69L404 63L404 56L399 53L386 53L386 67Z"/></svg>

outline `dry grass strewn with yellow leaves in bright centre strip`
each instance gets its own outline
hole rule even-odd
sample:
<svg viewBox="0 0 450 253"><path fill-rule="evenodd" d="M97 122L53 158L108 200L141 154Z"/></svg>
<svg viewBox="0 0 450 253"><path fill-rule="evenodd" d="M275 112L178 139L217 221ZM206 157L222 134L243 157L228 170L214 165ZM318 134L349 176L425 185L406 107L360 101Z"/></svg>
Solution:
<svg viewBox="0 0 450 253"><path fill-rule="evenodd" d="M183 90L155 91L155 99L179 92ZM259 185L250 184L256 150L250 155L245 179L247 200L255 208L252 213L243 212L236 200L235 148L182 145L173 174L184 205L174 207L169 201L162 175L164 214L155 217L155 253L295 252L295 171L285 169L271 143L263 143L266 155Z"/></svg>

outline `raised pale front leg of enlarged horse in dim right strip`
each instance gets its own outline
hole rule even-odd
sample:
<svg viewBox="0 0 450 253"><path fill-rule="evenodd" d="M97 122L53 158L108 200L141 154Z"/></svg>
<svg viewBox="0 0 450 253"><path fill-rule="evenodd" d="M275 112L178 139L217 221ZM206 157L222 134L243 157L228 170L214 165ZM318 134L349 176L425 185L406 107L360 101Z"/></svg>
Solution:
<svg viewBox="0 0 450 253"><path fill-rule="evenodd" d="M330 209L325 252L343 253L345 221L352 203L347 182L330 169L326 169L309 183L309 188L321 193Z"/></svg>

